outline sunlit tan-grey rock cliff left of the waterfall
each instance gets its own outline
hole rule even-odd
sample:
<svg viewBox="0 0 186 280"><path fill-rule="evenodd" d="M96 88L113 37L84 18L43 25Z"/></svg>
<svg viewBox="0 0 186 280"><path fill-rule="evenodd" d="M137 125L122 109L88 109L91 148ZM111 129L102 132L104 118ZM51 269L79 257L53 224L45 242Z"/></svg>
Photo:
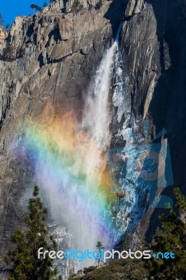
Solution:
<svg viewBox="0 0 186 280"><path fill-rule="evenodd" d="M0 50L0 259L22 218L22 186L33 187L31 170L8 152L17 125L27 116L50 121L56 112L43 118L48 103L50 110L73 109L78 116L81 92L122 20L122 1L103 1L97 10L95 1L84 1L85 6L73 11L71 2L57 1L41 13L15 18ZM2 279L2 259L0 267Z"/></svg>

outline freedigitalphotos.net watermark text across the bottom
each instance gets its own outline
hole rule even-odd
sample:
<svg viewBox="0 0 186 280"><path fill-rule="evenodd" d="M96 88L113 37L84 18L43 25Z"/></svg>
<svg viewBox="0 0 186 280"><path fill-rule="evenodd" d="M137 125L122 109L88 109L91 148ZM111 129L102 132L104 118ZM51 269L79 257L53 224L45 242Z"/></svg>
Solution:
<svg viewBox="0 0 186 280"><path fill-rule="evenodd" d="M111 259L144 259L148 260L150 258L156 258L158 259L174 259L175 255L172 252L158 252L158 253L152 253L150 250L144 250L144 251L105 251L104 249L101 250L95 250L90 251L89 249L81 251L74 251L73 249L67 250L67 251L45 251L43 247L38 249L38 259L45 259L47 256L51 259L59 259L59 260L78 260L78 262L83 262L85 259L94 259L94 260L102 260L103 262L106 262L107 260Z"/></svg>

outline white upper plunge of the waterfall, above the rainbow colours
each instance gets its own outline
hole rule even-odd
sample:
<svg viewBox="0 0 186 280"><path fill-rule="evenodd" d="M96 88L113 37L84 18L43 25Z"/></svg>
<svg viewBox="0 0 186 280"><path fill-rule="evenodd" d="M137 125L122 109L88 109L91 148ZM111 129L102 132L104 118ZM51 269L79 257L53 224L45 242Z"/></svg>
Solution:
<svg viewBox="0 0 186 280"><path fill-rule="evenodd" d="M89 128L90 134L101 151L106 151L110 144L109 124L111 116L108 108L108 94L113 77L113 66L117 57L116 52L118 51L118 38L121 28L122 24L117 31L115 41L101 59L86 97L83 127Z"/></svg>

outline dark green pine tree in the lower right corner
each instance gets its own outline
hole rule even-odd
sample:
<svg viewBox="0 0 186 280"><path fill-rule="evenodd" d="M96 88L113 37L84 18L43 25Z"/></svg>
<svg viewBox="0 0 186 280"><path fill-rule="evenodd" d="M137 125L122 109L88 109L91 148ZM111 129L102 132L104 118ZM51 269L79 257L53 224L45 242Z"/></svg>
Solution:
<svg viewBox="0 0 186 280"><path fill-rule="evenodd" d="M172 252L174 259L152 260L151 275L156 280L186 279L186 200L176 188L176 206L169 208L169 214L159 216L162 229L157 229L152 240L153 252ZM151 279L151 278L150 278Z"/></svg>

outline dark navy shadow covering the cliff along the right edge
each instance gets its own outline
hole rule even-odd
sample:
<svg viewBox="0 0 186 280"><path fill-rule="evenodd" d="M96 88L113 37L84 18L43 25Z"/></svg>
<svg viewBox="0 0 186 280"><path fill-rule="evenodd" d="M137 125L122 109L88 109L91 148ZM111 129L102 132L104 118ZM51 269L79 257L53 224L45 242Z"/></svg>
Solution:
<svg viewBox="0 0 186 280"><path fill-rule="evenodd" d="M174 185L185 193L186 173L186 18L182 1L145 0L150 3L157 20L157 38L162 75L157 81L150 114L157 132L166 127L170 145ZM165 188L162 195L173 198L173 188ZM155 234L158 215L164 209L155 209L150 217L146 237Z"/></svg>

